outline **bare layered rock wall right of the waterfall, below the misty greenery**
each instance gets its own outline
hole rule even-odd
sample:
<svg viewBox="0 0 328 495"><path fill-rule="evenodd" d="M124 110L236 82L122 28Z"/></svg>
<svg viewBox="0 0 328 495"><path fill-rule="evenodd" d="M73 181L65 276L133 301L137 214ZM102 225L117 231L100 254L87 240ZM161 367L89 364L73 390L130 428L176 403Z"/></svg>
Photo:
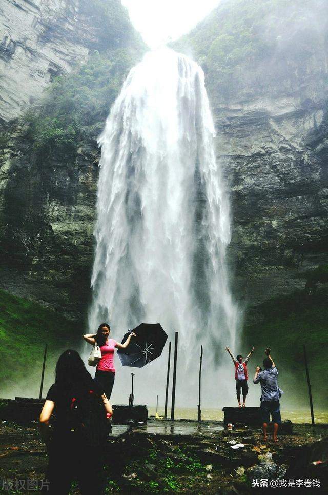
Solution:
<svg viewBox="0 0 328 495"><path fill-rule="evenodd" d="M250 304L305 288L304 274L328 263L328 104L311 96L305 87L215 101L218 158L231 185L237 293Z"/></svg>

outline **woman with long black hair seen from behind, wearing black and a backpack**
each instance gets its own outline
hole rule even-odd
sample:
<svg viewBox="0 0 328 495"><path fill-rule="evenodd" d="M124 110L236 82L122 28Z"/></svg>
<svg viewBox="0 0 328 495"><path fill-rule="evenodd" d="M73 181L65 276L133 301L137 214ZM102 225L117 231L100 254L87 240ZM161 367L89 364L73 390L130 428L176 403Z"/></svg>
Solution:
<svg viewBox="0 0 328 495"><path fill-rule="evenodd" d="M53 412L55 422L50 428ZM83 495L104 493L106 413L111 415L112 407L78 352L63 352L39 420L48 451L49 494L66 495L74 478Z"/></svg>

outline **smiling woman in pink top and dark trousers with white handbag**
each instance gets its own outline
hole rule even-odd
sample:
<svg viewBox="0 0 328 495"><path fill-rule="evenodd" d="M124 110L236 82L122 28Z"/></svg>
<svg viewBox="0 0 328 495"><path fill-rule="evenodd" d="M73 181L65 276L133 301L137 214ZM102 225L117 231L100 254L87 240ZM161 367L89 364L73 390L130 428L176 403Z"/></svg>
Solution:
<svg viewBox="0 0 328 495"><path fill-rule="evenodd" d="M114 350L125 349L130 344L131 337L135 337L135 333L131 333L124 344L116 342L114 339L109 338L111 328L107 323L101 323L97 330L97 333L87 333L83 335L83 338L89 344L97 345L100 347L101 359L97 364L97 370L95 380L97 380L105 391L106 397L109 399L113 390L115 380L115 367L114 367Z"/></svg>

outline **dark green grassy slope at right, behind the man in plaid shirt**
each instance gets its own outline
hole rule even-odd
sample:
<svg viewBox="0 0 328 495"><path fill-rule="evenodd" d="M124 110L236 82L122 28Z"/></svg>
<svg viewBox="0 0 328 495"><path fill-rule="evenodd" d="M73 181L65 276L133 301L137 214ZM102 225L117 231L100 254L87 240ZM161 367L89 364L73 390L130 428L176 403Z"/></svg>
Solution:
<svg viewBox="0 0 328 495"><path fill-rule="evenodd" d="M303 356L305 344L314 406L317 409L328 407L324 386L328 346L327 297L328 291L321 289L310 295L304 291L271 300L253 310L245 323L243 340L247 348L253 343L259 351L271 346L272 355L280 370L280 383L285 392L286 404L293 405L297 401L298 405L308 407ZM254 368L257 364L262 366L262 355L260 352L256 354L256 359L260 357L260 362L252 363ZM253 373L253 366L250 369Z"/></svg>

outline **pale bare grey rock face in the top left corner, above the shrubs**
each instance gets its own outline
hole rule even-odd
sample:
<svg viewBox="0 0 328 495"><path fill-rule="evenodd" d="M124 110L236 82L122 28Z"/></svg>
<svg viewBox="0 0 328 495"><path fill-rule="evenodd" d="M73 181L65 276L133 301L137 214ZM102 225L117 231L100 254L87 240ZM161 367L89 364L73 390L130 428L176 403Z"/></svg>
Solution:
<svg viewBox="0 0 328 495"><path fill-rule="evenodd" d="M90 50L104 48L108 23L94 4L86 0L1 3L0 122L17 117L55 76L86 61ZM123 12L119 2L105 0L107 4ZM113 19L115 15L112 12ZM124 34L117 36L117 46Z"/></svg>

